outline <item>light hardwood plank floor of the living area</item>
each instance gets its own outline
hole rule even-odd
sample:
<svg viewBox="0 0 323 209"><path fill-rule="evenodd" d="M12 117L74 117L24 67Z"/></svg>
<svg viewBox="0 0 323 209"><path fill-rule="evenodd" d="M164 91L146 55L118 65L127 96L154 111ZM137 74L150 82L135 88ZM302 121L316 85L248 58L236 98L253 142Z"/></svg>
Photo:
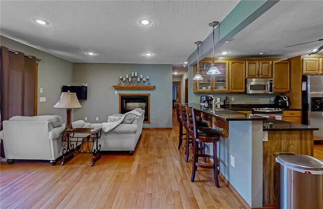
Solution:
<svg viewBox="0 0 323 209"><path fill-rule="evenodd" d="M174 115L175 119L175 115ZM133 156L103 155L93 166L89 154L75 154L66 165L47 161L1 160L0 208L244 208L212 171L198 168L190 182L191 161L172 130L146 129ZM323 147L314 154L322 158Z"/></svg>

